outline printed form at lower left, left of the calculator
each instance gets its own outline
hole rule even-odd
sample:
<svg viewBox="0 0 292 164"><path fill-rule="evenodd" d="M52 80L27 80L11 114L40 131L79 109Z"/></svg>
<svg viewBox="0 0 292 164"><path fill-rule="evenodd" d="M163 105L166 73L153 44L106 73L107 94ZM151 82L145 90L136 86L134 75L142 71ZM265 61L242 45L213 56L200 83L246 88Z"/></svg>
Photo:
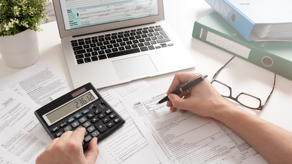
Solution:
<svg viewBox="0 0 292 164"><path fill-rule="evenodd" d="M4 158L18 157L23 163L33 164L51 143L34 115L39 107L9 88L0 91L0 146L11 153Z"/></svg>

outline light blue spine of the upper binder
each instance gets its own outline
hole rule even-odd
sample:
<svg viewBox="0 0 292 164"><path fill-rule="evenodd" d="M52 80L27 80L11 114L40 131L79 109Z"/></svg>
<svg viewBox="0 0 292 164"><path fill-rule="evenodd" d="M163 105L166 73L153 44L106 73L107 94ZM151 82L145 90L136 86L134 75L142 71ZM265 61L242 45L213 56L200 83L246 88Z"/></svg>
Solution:
<svg viewBox="0 0 292 164"><path fill-rule="evenodd" d="M234 29L246 40L248 39L255 23L247 16L237 10L227 0L205 0L222 18L224 18Z"/></svg>

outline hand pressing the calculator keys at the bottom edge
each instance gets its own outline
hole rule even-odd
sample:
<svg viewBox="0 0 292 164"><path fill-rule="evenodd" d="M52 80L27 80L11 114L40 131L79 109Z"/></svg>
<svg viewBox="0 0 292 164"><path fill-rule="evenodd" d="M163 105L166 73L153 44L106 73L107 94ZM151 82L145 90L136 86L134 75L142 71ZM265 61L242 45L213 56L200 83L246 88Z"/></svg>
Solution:
<svg viewBox="0 0 292 164"><path fill-rule="evenodd" d="M36 164L94 164L99 153L97 138L91 139L84 157L82 141L85 131L85 128L66 131L61 137L55 138L37 157Z"/></svg>

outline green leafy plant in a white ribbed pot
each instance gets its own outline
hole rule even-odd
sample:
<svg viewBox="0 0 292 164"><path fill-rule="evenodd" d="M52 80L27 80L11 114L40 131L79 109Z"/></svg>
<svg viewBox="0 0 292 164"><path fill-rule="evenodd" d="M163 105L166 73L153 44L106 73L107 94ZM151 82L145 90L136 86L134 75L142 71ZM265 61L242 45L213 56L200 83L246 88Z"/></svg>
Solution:
<svg viewBox="0 0 292 164"><path fill-rule="evenodd" d="M39 58L37 32L48 19L48 0L0 0L0 54L7 66L24 68Z"/></svg>

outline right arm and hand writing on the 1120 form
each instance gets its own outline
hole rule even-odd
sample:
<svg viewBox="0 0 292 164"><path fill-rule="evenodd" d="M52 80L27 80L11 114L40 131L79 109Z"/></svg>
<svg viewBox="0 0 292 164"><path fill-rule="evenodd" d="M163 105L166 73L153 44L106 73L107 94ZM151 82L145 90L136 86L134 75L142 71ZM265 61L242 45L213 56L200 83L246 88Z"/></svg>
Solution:
<svg viewBox="0 0 292 164"><path fill-rule="evenodd" d="M175 75L166 93L170 99L166 105L170 107L171 111L179 108L181 112L188 110L198 115L218 119L237 132L268 162L272 164L292 163L291 131L282 129L227 102L208 80L192 87L190 94L187 92L183 92L179 96L170 94L198 75L191 73Z"/></svg>

